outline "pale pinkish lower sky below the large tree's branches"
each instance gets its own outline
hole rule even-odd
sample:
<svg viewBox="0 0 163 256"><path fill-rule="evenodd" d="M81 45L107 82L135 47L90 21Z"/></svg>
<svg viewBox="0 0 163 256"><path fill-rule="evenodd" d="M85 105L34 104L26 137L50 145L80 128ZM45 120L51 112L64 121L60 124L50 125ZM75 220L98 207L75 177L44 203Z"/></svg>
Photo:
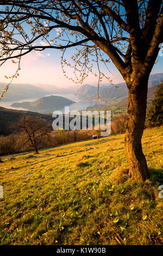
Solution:
<svg viewBox="0 0 163 256"><path fill-rule="evenodd" d="M68 55L73 55L74 49L68 49ZM36 86L52 85L57 87L72 87L76 84L67 78L62 73L60 58L61 51L56 49L46 49L45 51L38 52L33 51L28 55L23 56L21 59L20 76L13 80L13 83L32 84ZM9 79L5 79L5 75L11 76L16 71L16 64L11 63L9 60L0 68L0 81L9 82ZM118 84L123 82L121 74L118 72L113 63L109 63L108 67L111 73L101 66L102 72L109 75L112 82ZM158 56L158 62L154 65L152 73L163 73L163 56ZM74 76L73 69L67 69L68 76ZM83 84L97 85L97 78L90 74ZM103 80L102 84L107 84L108 80ZM46 88L45 88L46 89Z"/></svg>

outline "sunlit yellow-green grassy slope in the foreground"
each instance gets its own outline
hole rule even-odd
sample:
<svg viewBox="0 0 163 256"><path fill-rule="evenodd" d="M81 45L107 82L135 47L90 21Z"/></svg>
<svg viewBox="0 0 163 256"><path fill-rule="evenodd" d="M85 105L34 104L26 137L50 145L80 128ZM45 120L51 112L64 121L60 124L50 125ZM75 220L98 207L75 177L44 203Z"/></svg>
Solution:
<svg viewBox="0 0 163 256"><path fill-rule="evenodd" d="M160 245L162 135L143 135L152 171L145 183L126 180L124 135L2 158L1 244Z"/></svg>

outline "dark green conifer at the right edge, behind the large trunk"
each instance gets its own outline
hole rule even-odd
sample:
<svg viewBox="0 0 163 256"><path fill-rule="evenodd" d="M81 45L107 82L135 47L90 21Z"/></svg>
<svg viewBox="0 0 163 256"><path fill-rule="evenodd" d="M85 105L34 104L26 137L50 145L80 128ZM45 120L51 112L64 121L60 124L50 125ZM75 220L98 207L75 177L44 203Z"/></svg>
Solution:
<svg viewBox="0 0 163 256"><path fill-rule="evenodd" d="M157 86L152 104L147 110L146 122L152 126L163 124L163 82Z"/></svg>

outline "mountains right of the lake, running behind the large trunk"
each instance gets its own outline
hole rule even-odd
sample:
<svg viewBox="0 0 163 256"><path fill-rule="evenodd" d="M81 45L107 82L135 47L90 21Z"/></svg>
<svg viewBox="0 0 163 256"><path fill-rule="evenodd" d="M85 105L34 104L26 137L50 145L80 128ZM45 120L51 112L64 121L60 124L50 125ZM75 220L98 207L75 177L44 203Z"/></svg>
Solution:
<svg viewBox="0 0 163 256"><path fill-rule="evenodd" d="M163 73L153 74L149 76L148 88L152 88L155 85L160 84L163 80ZM128 97L128 88L126 83L117 84L115 86L102 86L99 88L101 94L100 100L103 105L111 105L122 101ZM149 90L149 89L148 89ZM83 85L76 92L76 95L83 99L89 99L97 103L97 87L91 85ZM149 91L150 92L150 91ZM125 102L125 100L124 100Z"/></svg>

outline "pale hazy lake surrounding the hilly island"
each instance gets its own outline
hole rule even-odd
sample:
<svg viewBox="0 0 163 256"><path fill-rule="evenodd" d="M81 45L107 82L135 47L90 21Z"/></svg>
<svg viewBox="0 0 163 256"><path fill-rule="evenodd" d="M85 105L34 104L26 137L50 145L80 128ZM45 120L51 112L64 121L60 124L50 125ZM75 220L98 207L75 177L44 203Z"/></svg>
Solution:
<svg viewBox="0 0 163 256"><path fill-rule="evenodd" d="M47 96L61 96L61 97L65 97L67 99L70 99L70 100L73 100L74 102L76 103L73 103L69 106L69 109L70 111L72 110L77 110L77 111L81 111L81 110L85 110L87 109L88 106L93 106L95 105L95 103L93 103L91 100L83 100L83 99L80 99L78 96L72 94L72 93L68 93L68 94L48 94L44 97L47 97ZM38 98L37 98L38 99ZM0 102L0 106L2 106L3 108L7 108L7 109L17 109L17 110L28 110L28 109L23 109L23 108L13 108L11 107L11 105L13 103L21 103L21 102L34 102L35 100L37 99L23 99L23 100L14 100L14 101L11 101L11 102L3 102L3 99L1 100ZM64 114L67 114L64 112L64 108L62 109L57 109L59 111L62 111Z"/></svg>

